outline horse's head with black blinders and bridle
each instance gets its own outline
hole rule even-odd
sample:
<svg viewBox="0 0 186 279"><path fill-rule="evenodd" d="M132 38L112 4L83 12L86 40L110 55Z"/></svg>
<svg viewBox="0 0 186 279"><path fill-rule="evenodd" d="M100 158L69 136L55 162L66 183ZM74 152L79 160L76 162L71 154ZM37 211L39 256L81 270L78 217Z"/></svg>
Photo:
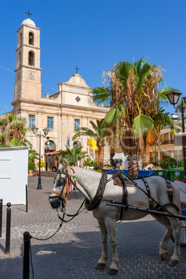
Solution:
<svg viewBox="0 0 186 279"><path fill-rule="evenodd" d="M53 189L51 191L52 194L49 196L49 203L53 209L65 207L65 202L67 199L67 173L68 167L67 162L65 162L64 166L60 166L58 169L58 174L56 178L53 180Z"/></svg>

